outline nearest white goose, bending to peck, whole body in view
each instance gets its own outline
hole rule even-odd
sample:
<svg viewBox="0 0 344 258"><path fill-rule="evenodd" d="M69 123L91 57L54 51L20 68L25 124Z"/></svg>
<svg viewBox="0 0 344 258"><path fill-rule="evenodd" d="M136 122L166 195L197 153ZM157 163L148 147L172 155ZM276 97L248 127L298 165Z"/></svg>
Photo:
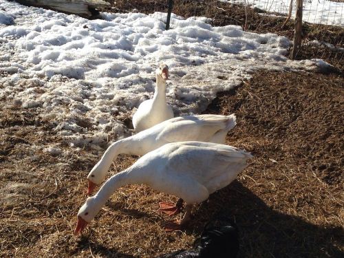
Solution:
<svg viewBox="0 0 344 258"><path fill-rule="evenodd" d="M211 193L235 180L246 168L248 158L252 158L250 153L224 144L165 144L143 155L125 171L113 175L96 195L87 198L78 211L74 234L81 233L114 191L127 184L147 184L156 191L180 197L186 203L180 225L185 224L190 219L193 204L207 200Z"/></svg>

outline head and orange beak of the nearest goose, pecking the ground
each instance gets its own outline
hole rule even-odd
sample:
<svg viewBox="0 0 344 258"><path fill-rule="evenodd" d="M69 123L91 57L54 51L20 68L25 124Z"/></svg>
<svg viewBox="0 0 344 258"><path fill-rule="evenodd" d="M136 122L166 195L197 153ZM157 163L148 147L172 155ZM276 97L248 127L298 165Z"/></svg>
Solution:
<svg viewBox="0 0 344 258"><path fill-rule="evenodd" d="M100 211L101 204L94 200L94 197L88 197L85 204L81 206L78 211L78 223L74 230L74 235L83 233L83 230L86 228L87 224L96 217Z"/></svg>

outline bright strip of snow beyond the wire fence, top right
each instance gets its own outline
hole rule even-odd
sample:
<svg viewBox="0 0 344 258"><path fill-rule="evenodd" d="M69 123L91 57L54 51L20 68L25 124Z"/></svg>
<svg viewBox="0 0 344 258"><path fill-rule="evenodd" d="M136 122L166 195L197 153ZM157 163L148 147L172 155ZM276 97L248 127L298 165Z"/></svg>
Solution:
<svg viewBox="0 0 344 258"><path fill-rule="evenodd" d="M252 7L268 12L288 14L290 0L219 0L227 3L248 3ZM296 0L292 2L292 17L296 13ZM303 21L325 25L344 26L344 2L331 0L304 0Z"/></svg>

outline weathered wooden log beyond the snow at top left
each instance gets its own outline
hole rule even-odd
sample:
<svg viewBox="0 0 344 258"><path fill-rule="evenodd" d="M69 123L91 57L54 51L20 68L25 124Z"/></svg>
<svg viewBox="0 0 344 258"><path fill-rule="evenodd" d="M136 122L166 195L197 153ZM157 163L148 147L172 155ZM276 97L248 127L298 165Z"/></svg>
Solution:
<svg viewBox="0 0 344 258"><path fill-rule="evenodd" d="M103 0L17 0L25 6L41 7L57 10L67 14L77 14L89 18L97 9L109 8L110 4Z"/></svg>

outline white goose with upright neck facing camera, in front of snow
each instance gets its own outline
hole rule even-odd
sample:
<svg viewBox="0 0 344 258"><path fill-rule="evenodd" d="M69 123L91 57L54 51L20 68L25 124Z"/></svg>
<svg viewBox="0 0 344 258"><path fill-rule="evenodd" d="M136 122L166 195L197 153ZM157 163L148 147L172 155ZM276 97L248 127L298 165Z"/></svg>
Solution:
<svg viewBox="0 0 344 258"><path fill-rule="evenodd" d="M153 125L173 118L171 106L166 103L166 80L169 78L169 67L161 64L156 70L156 86L153 99L144 100L133 115L133 128L143 131Z"/></svg>

